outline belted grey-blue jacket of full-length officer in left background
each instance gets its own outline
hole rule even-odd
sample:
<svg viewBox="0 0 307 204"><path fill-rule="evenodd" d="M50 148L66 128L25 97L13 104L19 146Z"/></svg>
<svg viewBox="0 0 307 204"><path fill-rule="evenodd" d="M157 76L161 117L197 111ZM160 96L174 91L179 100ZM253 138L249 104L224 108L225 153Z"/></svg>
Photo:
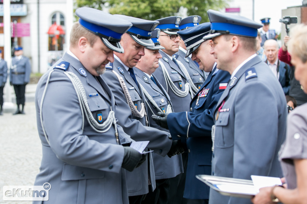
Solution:
<svg viewBox="0 0 307 204"><path fill-rule="evenodd" d="M20 60L13 57L10 70L10 83L13 85L27 84L30 81L31 66L29 58L22 56Z"/></svg>

